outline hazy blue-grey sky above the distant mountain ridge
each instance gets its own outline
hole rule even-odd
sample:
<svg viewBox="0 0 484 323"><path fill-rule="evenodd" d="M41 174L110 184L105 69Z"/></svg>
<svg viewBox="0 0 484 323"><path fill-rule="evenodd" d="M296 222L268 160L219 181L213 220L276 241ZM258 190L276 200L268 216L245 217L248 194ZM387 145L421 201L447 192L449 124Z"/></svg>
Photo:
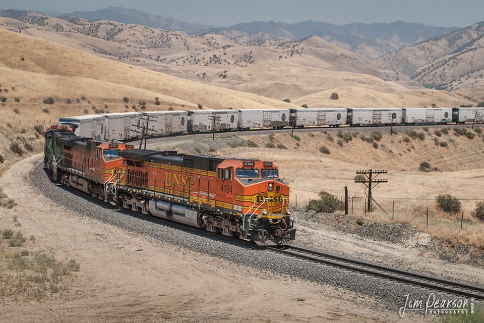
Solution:
<svg viewBox="0 0 484 323"><path fill-rule="evenodd" d="M484 0L0 0L0 9L65 13L114 6L225 26L257 20L336 24L403 20L463 27L484 20Z"/></svg>

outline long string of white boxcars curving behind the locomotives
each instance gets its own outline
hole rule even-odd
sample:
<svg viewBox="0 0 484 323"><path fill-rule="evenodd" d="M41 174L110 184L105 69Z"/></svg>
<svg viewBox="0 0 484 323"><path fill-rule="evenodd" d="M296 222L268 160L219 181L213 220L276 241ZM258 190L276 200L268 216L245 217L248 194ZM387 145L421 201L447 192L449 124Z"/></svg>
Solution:
<svg viewBox="0 0 484 323"><path fill-rule="evenodd" d="M150 119L148 119L148 117ZM149 121L148 121L149 120ZM81 137L125 140L139 137L148 123L153 136L231 131L281 129L284 127L339 127L484 123L482 107L414 107L372 109L248 109L128 112L61 118Z"/></svg>

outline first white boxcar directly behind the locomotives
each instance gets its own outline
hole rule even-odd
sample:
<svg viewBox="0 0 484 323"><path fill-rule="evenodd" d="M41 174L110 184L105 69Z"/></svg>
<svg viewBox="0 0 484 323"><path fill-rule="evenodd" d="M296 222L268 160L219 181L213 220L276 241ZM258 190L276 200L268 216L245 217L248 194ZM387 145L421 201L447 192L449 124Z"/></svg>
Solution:
<svg viewBox="0 0 484 323"><path fill-rule="evenodd" d="M84 115L60 118L59 123L69 124L79 137L104 139L105 117L102 115Z"/></svg>

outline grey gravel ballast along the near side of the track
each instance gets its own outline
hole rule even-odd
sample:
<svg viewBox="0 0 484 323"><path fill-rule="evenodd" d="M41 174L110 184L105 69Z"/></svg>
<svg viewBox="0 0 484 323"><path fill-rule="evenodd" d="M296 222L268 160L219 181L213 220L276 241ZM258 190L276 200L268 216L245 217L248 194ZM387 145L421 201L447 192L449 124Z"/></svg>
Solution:
<svg viewBox="0 0 484 323"><path fill-rule="evenodd" d="M329 284L355 292L356 298L360 298L361 301L364 301L365 297L373 297L379 301L379 304L375 304L377 308L398 310L404 304L404 295L410 294L413 298L426 300L431 292L339 268L317 265L257 247L240 245L226 239L206 236L167 221L141 217L134 212L116 209L84 193L52 183L42 168L40 159L26 180L30 181L39 193L80 216L116 226L130 233L147 235L168 244L219 257L234 263L234 266L250 266L269 276L283 274L322 285ZM345 295L340 297L347 298ZM366 303L368 305L368 302Z"/></svg>

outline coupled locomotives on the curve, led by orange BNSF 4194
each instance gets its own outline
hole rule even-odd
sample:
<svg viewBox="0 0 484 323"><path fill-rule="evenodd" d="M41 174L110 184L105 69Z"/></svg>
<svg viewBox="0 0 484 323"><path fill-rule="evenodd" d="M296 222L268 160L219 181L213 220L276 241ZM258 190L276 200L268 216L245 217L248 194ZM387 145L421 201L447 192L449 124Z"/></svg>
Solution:
<svg viewBox="0 0 484 323"><path fill-rule="evenodd" d="M46 131L44 161L58 182L119 207L259 245L295 237L289 187L267 161L135 149L67 125Z"/></svg>

